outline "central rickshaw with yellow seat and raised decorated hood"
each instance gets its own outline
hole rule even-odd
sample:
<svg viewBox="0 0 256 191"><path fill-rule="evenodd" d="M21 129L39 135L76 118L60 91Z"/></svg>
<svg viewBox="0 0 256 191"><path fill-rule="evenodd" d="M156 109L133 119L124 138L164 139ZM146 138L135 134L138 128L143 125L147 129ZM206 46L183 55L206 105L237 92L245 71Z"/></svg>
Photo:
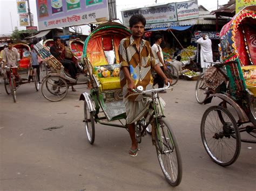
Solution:
<svg viewBox="0 0 256 191"><path fill-rule="evenodd" d="M130 35L130 30L124 25L110 21L96 27L85 40L83 61L90 68L92 89L90 93L81 94L79 100L84 101L83 122L90 144L95 142L97 123L127 130L119 79L118 46L123 38ZM170 84L167 89L169 87ZM136 123L136 139L140 143L146 129L151 125L156 127L152 128L152 138L155 140L159 164L167 182L178 186L182 176L179 147L171 126L163 115L163 105L160 104L157 94L164 89L166 88L143 90L139 86L134 90L136 94L147 93L152 96L149 114Z"/></svg>

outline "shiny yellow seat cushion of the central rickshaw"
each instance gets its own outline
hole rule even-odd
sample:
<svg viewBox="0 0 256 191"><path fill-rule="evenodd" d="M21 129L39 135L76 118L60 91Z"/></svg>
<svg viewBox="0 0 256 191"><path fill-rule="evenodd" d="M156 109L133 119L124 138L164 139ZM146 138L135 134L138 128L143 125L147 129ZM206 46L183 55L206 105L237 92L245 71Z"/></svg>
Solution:
<svg viewBox="0 0 256 191"><path fill-rule="evenodd" d="M120 79L118 77L99 77L102 90L120 89Z"/></svg>

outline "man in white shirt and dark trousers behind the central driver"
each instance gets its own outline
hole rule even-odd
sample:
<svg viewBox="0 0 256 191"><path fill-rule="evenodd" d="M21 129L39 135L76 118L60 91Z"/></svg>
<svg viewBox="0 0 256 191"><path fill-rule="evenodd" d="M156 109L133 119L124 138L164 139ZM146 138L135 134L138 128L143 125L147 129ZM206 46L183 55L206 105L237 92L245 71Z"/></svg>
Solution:
<svg viewBox="0 0 256 191"><path fill-rule="evenodd" d="M151 51L156 59L156 63L160 66L160 68L163 70L167 70L167 67L164 63L164 55L162 52L162 49L160 47L160 44L163 40L162 36L160 34L157 34L156 37L154 37L154 44L151 46ZM158 84L158 88L164 87L164 80L161 78L159 74L156 74L156 77L154 78L153 86ZM166 90L159 91L159 93L166 93Z"/></svg>

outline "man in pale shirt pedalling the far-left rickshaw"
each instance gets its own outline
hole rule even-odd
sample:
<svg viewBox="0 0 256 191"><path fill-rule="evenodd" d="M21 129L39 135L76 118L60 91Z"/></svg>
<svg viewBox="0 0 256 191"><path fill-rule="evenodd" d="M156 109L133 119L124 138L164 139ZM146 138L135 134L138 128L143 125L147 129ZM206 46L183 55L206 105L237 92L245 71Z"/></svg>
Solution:
<svg viewBox="0 0 256 191"><path fill-rule="evenodd" d="M15 47L12 47L12 40L7 41L8 47L3 49L3 67L7 65L8 67L17 67L19 60L19 54ZM15 76L15 80L17 82L21 82L21 79L19 78L19 75L17 73L17 68L12 68L12 73ZM10 72L6 71L7 77L9 77Z"/></svg>

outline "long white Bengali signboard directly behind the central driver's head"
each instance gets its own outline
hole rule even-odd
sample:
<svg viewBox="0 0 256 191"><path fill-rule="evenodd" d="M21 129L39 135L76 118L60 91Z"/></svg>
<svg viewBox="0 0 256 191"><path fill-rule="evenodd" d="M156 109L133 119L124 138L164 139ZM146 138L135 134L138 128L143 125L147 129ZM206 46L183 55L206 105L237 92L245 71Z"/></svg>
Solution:
<svg viewBox="0 0 256 191"><path fill-rule="evenodd" d="M125 10L122 12L123 23L129 26L129 19L136 14L142 14L147 24L167 23L177 21L175 3L165 5L149 6L140 9Z"/></svg>

